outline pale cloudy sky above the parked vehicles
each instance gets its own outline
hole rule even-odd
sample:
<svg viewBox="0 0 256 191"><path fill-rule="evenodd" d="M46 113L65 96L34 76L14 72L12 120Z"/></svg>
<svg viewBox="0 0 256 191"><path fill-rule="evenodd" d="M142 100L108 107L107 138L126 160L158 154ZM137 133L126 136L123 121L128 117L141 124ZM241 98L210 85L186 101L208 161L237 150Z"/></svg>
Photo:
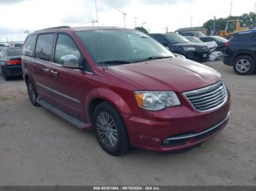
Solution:
<svg viewBox="0 0 256 191"><path fill-rule="evenodd" d="M99 26L143 26L151 33L203 26L230 15L231 0L97 0ZM255 12L256 0L233 0L232 15ZM118 10L119 9L119 10ZM0 0L0 42L23 41L29 33L53 26L92 26L94 0ZM120 12L120 10L122 12ZM135 19L136 17L136 19ZM97 26L97 23L94 23Z"/></svg>

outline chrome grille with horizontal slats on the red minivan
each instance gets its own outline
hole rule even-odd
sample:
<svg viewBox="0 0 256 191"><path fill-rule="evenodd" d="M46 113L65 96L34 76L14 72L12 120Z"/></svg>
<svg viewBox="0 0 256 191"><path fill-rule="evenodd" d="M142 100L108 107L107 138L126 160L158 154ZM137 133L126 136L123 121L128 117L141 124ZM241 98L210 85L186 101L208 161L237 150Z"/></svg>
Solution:
<svg viewBox="0 0 256 191"><path fill-rule="evenodd" d="M227 101L227 90L222 81L184 93L192 106L199 112L218 109Z"/></svg>

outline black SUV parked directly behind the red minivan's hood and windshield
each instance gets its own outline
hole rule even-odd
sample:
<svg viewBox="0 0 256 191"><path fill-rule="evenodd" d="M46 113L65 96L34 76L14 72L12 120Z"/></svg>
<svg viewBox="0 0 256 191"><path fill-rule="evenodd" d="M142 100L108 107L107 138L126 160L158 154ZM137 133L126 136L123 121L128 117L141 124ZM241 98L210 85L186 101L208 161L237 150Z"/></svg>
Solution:
<svg viewBox="0 0 256 191"><path fill-rule="evenodd" d="M179 34L150 34L171 52L184 55L187 59L200 63L208 61L210 50L206 45L189 42Z"/></svg>

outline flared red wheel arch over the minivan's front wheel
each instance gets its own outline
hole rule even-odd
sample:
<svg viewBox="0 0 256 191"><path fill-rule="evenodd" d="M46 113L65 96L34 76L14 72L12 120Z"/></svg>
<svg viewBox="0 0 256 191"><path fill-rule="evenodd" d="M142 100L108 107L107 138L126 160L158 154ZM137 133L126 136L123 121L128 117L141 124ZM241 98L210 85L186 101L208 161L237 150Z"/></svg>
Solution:
<svg viewBox="0 0 256 191"><path fill-rule="evenodd" d="M86 96L86 100L85 100L86 121L91 121L89 117L89 105L91 101L93 101L95 98L101 98L101 99L104 99L105 101L108 101L110 104L115 106L118 112L120 112L121 114L127 114L127 115L132 114L132 111L129 108L128 104L124 101L123 98L121 98L120 95L118 95L117 93L105 87L99 87L91 90L89 94Z"/></svg>

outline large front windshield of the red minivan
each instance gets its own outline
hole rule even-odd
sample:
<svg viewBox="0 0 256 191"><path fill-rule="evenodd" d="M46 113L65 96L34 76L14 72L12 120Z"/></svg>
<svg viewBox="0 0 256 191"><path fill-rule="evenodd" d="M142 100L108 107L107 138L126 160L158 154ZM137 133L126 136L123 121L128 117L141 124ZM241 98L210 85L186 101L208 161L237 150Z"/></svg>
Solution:
<svg viewBox="0 0 256 191"><path fill-rule="evenodd" d="M174 57L161 44L140 31L92 30L77 31L97 63L132 63L148 58Z"/></svg>

